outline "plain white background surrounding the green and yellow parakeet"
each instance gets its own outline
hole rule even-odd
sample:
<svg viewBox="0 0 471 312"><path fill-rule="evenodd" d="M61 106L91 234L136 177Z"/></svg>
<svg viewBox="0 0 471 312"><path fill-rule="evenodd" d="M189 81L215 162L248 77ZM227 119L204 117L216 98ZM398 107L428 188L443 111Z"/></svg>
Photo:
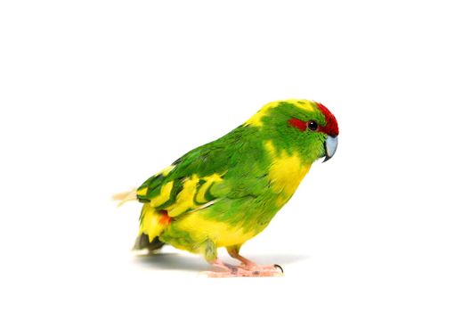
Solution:
<svg viewBox="0 0 471 312"><path fill-rule="evenodd" d="M469 311L466 3L3 1L0 309ZM340 136L242 249L284 277L130 253L111 194L293 97Z"/></svg>

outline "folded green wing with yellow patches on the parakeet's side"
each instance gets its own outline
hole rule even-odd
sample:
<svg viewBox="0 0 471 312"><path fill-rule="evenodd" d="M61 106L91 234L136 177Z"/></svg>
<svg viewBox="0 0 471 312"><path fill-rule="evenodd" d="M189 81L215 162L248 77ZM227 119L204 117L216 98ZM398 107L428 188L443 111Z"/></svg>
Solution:
<svg viewBox="0 0 471 312"><path fill-rule="evenodd" d="M238 127L202 145L150 177L137 190L139 201L176 217L220 199L255 198L267 188L265 154L248 127Z"/></svg>

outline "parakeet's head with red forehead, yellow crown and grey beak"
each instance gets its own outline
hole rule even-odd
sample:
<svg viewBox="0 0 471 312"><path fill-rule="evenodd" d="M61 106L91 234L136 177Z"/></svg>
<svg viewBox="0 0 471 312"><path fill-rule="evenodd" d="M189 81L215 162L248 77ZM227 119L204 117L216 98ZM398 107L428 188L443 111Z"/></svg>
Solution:
<svg viewBox="0 0 471 312"><path fill-rule="evenodd" d="M331 159L337 150L337 119L321 103L285 100L266 104L245 123L257 127L263 140L296 152L306 162Z"/></svg>

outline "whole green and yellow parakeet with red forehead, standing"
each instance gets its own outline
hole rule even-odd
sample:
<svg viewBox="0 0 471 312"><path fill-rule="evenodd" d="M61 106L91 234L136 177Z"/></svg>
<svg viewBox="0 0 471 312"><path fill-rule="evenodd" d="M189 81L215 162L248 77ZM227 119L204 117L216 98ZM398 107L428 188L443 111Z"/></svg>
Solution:
<svg viewBox="0 0 471 312"><path fill-rule="evenodd" d="M209 276L280 275L280 266L259 266L240 256L240 247L268 226L315 160L334 155L337 135L337 120L321 103L264 105L227 135L115 196L143 204L134 248L170 244L199 253L215 267ZM218 259L220 247L240 266Z"/></svg>

